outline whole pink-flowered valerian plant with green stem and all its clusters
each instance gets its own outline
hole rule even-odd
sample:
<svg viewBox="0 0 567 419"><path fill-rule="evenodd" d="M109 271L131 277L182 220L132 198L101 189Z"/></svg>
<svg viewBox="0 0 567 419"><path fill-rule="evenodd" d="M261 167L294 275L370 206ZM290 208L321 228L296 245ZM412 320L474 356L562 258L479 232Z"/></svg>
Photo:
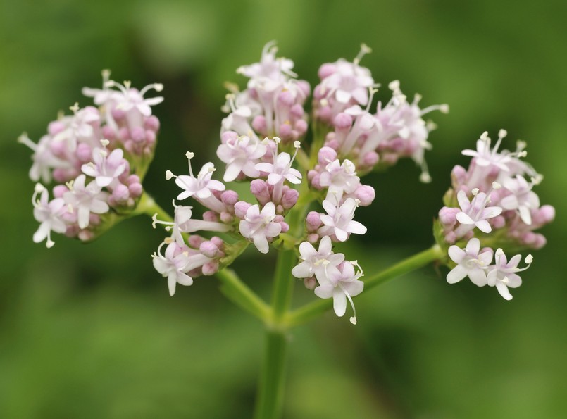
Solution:
<svg viewBox="0 0 567 419"><path fill-rule="evenodd" d="M25 134L20 137L34 151L32 203L40 223L34 241L53 246L51 232L89 241L121 218L138 214L149 215L154 228L165 227L168 235L152 258L171 296L177 284L189 286L201 275L216 275L225 296L266 325L256 418L280 414L290 328L330 308L339 317L351 311L350 322L356 325L354 297L363 290L438 262L449 267L447 282L468 277L511 299L509 288L521 284L518 273L533 258L528 254L521 266L521 254L509 258L505 252L544 246L544 237L534 230L553 220L554 208L541 206L532 190L542 175L523 161L525 143L518 142L515 151L500 149L505 130L494 146L485 132L475 150L463 151L471 163L451 173L430 249L369 275L356 260L335 252L335 243L367 232L355 220L357 208L375 199L375 189L361 181L364 175L411 158L420 180L430 182L425 151L431 149L435 125L423 118L449 111L444 104L422 108L418 94L410 101L397 80L388 84L390 99L376 104L379 85L360 65L368 52L363 44L354 61L320 66L310 114L309 83L297 79L291 60L276 56L273 42L263 49L260 62L238 68L248 81L242 90L230 85L226 96L228 115L216 151L221 170L213 162L194 168L194 154L187 151L187 173L166 171L166 180L180 188L173 215L142 187L159 130L151 106L163 101L145 96L163 86L138 90L130 82L111 80L105 70L101 89L83 89L96 107L75 104L72 115L49 123L37 144ZM230 189L234 182L249 185L253 198L242 199ZM46 185L53 185L51 199ZM194 217L196 204L204 208L201 218ZM229 268L250 244L262 254L278 250L269 304ZM298 279L313 290L316 301L291 310Z"/></svg>

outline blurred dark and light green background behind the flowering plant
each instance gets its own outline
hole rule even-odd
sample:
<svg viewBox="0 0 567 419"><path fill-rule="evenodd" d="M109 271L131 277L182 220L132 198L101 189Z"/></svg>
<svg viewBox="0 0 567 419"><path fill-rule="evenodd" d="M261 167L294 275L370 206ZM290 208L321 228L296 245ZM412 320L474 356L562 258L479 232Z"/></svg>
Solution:
<svg viewBox="0 0 567 419"><path fill-rule="evenodd" d="M242 86L235 68L276 39L312 86L320 63L366 42L376 81L451 106L431 115L431 184L409 161L373 175L377 199L360 210L370 233L345 249L367 273L430 246L450 170L485 130L506 128L510 147L528 141L545 175L537 193L558 214L513 301L429 267L357 297L356 327L329 313L294 330L284 417L564 418L566 21L563 1L1 0L0 417L249 417L260 323L213 277L170 298L150 258L163 232L147 218L89 245L33 244L30 151L15 139L37 140L58 110L89 104L80 89L99 87L103 68L137 87L163 82L144 185L169 208L163 174L186 170L187 149L214 158L223 82ZM258 255L237 268L268 295L274 254ZM315 298L301 288L297 304Z"/></svg>

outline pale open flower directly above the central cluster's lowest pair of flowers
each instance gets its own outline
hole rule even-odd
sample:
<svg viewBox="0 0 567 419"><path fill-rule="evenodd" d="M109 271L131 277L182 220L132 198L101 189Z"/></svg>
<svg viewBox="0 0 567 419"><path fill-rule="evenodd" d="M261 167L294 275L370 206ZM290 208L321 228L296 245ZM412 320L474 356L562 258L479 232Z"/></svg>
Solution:
<svg viewBox="0 0 567 419"><path fill-rule="evenodd" d="M325 199L323 208L327 214L321 214L321 222L328 228L321 227L322 233L335 234L339 242L345 242L349 238L349 233L365 234L366 227L358 221L353 221L356 200L347 198L344 203L337 207L331 201Z"/></svg>

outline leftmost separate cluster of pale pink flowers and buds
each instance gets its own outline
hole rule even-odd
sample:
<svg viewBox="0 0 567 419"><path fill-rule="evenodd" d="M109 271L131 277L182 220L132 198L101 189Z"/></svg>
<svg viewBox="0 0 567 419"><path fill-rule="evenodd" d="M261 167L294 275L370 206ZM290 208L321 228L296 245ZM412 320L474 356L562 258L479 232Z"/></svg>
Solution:
<svg viewBox="0 0 567 419"><path fill-rule="evenodd" d="M54 245L51 232L88 241L106 230L118 215L131 213L142 195L142 178L154 155L159 121L151 105L162 97L144 99L154 84L141 91L109 80L102 89L83 89L95 106L71 106L47 134L34 143L23 134L19 142L33 151L30 178L38 182L32 197L35 219L41 223L34 242ZM42 183L39 183L41 181ZM43 184L54 183L53 199Z"/></svg>

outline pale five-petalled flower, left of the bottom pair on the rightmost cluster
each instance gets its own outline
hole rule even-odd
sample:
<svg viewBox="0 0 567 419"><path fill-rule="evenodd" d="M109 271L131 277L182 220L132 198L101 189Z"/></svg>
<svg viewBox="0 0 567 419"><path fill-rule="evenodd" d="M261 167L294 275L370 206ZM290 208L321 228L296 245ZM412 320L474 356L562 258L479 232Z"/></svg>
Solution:
<svg viewBox="0 0 567 419"><path fill-rule="evenodd" d="M447 282L454 284L468 276L474 284L483 287L487 284L486 272L492 262L492 249L482 251L480 254L480 240L473 237L465 249L458 246L449 247L449 257L457 265L447 274Z"/></svg>

